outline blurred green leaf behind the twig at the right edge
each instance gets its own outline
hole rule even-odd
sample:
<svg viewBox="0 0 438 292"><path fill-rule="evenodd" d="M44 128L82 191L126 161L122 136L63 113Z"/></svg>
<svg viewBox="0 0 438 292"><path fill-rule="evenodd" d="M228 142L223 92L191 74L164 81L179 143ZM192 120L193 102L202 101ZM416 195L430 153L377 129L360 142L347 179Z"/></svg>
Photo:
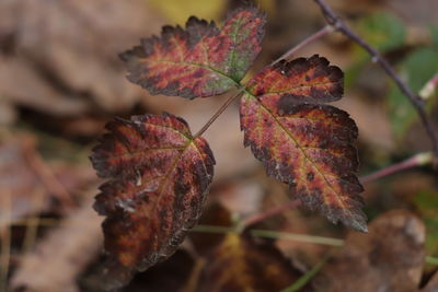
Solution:
<svg viewBox="0 0 438 292"><path fill-rule="evenodd" d="M408 87L418 93L426 82L438 71L438 49L418 48L411 52L400 65L399 73L407 82ZM395 137L403 137L410 126L416 120L417 115L410 101L391 82L389 106L391 124ZM430 109L436 98L430 98L427 109Z"/></svg>

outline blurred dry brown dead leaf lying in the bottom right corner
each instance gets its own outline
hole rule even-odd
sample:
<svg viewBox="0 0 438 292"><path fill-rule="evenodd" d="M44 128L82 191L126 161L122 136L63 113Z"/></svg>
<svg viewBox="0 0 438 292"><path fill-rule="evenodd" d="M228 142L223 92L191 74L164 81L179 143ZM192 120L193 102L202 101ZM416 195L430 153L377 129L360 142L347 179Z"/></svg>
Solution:
<svg viewBox="0 0 438 292"><path fill-rule="evenodd" d="M415 214L387 212L370 223L368 234L349 233L312 285L319 292L418 291L425 237L425 225Z"/></svg>

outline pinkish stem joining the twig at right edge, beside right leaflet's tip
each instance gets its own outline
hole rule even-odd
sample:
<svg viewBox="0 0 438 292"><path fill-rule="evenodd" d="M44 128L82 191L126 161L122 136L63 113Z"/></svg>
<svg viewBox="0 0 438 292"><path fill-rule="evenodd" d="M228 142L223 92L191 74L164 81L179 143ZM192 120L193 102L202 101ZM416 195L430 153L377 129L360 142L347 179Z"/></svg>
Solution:
<svg viewBox="0 0 438 292"><path fill-rule="evenodd" d="M417 166L422 166L422 165L426 165L429 163L434 162L434 155L431 152L423 152L423 153L418 153L405 161L402 161L400 163L390 165L388 167L384 167L380 171L377 171L374 173L368 174L366 176L360 177L360 183L362 184L367 184L370 183L372 180L392 175L394 173L399 173L401 171L404 170L408 170L408 168L413 168L413 167L417 167Z"/></svg>

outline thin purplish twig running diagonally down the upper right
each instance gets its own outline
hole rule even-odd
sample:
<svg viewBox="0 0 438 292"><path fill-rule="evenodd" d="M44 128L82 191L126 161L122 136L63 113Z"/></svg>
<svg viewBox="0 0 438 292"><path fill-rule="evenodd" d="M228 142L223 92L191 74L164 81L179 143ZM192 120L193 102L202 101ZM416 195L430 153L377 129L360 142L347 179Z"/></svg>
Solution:
<svg viewBox="0 0 438 292"><path fill-rule="evenodd" d="M339 19L339 16L332 10L332 8L325 3L324 0L313 0L321 8L322 13L325 16L325 20L330 25L332 25L336 31L344 34L346 37L350 38L355 43L357 43L360 47L369 52L372 57L372 60L378 62L383 70L387 72L389 77L394 80L395 84L399 89L406 95L412 105L417 110L417 114L423 122L423 126L426 129L427 135L430 138L431 145L435 152L435 155L438 156L438 131L434 129L434 126L429 118L427 117L426 110L424 108L424 101L414 94L411 89L406 85L405 82L395 73L394 69L390 66L390 63L379 54L377 49L371 47L367 42L365 42L358 34L351 31L345 23Z"/></svg>

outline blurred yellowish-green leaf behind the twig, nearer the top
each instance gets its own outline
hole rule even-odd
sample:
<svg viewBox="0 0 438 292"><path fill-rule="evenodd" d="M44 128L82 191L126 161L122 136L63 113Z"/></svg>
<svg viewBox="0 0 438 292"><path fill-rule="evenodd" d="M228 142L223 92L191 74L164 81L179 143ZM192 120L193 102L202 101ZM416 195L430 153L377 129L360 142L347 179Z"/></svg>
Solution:
<svg viewBox="0 0 438 292"><path fill-rule="evenodd" d="M355 25L358 34L379 51L384 52L401 47L406 32L403 22L388 12L376 12L360 19ZM361 47L353 49L354 63L347 70L345 85L349 87L370 61L370 56Z"/></svg>

